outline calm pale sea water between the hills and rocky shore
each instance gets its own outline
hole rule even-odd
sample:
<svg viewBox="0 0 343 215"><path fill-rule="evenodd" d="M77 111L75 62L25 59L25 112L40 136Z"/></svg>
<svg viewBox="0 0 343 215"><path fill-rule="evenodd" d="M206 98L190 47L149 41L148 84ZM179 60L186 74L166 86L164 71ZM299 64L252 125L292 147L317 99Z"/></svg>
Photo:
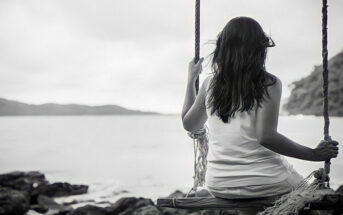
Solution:
<svg viewBox="0 0 343 215"><path fill-rule="evenodd" d="M279 131L314 147L323 119L281 116ZM343 144L343 118L331 117L330 135ZM193 144L179 116L0 117L0 173L38 170L49 181L83 183L86 195L58 201L157 198L192 186ZM288 159L303 176L322 162ZM331 185L343 184L343 155L332 160Z"/></svg>

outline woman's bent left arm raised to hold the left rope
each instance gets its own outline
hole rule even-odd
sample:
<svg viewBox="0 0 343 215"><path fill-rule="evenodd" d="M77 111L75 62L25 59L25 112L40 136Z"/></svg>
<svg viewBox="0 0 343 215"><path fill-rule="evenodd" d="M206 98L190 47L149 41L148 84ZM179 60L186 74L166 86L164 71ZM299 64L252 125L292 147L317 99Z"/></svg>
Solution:
<svg viewBox="0 0 343 215"><path fill-rule="evenodd" d="M186 96L182 108L182 123L184 129L190 132L203 128L207 120L205 99L208 78L203 82L198 95L196 95L195 91L195 82L202 70L202 61L203 58L195 64L193 60L189 63L188 68Z"/></svg>

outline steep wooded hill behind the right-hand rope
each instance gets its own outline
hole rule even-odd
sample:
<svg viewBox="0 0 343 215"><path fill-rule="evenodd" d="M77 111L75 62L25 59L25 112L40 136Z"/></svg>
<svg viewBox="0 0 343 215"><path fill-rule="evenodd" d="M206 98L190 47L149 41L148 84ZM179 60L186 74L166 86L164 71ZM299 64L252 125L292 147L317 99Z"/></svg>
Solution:
<svg viewBox="0 0 343 215"><path fill-rule="evenodd" d="M309 76L292 85L284 109L290 114L322 115L322 66L315 66ZM343 116L343 51L329 60L329 112L331 116Z"/></svg>

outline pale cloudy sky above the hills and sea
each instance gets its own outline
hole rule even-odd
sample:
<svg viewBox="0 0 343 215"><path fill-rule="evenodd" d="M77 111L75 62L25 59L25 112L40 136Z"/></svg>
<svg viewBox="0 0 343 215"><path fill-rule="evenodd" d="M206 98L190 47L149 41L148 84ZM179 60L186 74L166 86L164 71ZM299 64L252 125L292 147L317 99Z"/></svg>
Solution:
<svg viewBox="0 0 343 215"><path fill-rule="evenodd" d="M329 57L343 50L343 1L329 0ZM293 81L321 64L320 0L203 0L201 56L236 16L276 47L267 70ZM194 50L193 0L0 0L0 97L179 113ZM204 63L201 80L211 70Z"/></svg>

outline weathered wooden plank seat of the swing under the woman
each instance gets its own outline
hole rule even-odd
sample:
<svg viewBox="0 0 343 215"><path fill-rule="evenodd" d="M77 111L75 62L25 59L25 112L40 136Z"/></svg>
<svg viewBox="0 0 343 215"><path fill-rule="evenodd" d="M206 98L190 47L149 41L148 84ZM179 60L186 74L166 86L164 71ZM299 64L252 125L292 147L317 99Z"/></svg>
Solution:
<svg viewBox="0 0 343 215"><path fill-rule="evenodd" d="M206 209L249 209L266 208L273 206L279 196L256 198L256 199L222 199L214 197L191 197L191 198L159 198L157 206L189 210ZM327 194L321 200L307 203L303 210L338 210L343 211L343 194Z"/></svg>

